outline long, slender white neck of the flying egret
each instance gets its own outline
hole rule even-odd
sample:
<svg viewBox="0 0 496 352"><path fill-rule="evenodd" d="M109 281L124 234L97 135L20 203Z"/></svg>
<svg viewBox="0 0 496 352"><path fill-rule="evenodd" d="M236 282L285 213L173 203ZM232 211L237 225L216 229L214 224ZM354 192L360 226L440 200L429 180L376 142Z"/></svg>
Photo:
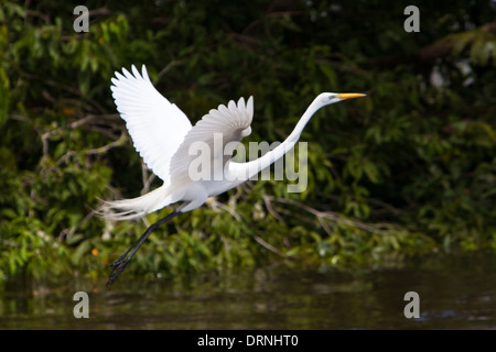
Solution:
<svg viewBox="0 0 496 352"><path fill-rule="evenodd" d="M278 160L283 157L294 146L294 144L296 144L306 123L310 121L312 116L323 106L324 105L322 105L317 99L313 100L313 102L309 106L306 111L301 117L300 121L294 127L293 132L291 132L291 134L284 140L284 142L255 161L247 163L233 163L235 165L231 165L231 170L235 172L240 178L246 177L246 180L250 179L262 169L276 163Z"/></svg>

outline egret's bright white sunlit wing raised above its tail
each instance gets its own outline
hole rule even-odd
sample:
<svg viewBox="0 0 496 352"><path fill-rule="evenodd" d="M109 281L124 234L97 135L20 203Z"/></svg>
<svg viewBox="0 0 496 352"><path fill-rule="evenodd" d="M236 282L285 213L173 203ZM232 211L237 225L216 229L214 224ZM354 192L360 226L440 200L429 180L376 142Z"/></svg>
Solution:
<svg viewBox="0 0 496 352"><path fill-rule="evenodd" d="M192 129L187 117L152 85L143 65L141 75L122 68L111 81L117 110L126 121L134 148L144 163L164 182L170 182L172 156Z"/></svg>

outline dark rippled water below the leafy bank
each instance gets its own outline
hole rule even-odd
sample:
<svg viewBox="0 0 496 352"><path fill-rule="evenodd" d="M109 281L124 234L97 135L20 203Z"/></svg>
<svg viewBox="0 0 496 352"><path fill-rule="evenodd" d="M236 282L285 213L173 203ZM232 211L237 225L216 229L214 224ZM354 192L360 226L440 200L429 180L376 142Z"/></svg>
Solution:
<svg viewBox="0 0 496 352"><path fill-rule="evenodd" d="M77 279L0 293L0 329L495 329L496 257L436 256L396 268L258 268L137 280ZM127 280L128 279L128 280ZM76 292L89 318L76 319ZM407 319L405 294L420 298Z"/></svg>

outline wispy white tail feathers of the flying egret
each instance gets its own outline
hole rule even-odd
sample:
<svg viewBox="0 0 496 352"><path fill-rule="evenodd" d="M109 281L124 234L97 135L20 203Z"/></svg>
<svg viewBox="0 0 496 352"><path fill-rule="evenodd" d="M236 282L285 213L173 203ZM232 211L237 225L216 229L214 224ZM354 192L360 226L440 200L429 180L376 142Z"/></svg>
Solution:
<svg viewBox="0 0 496 352"><path fill-rule="evenodd" d="M141 218L171 204L168 199L170 197L168 196L168 187L161 186L141 197L110 201L104 200L97 212L109 220Z"/></svg>

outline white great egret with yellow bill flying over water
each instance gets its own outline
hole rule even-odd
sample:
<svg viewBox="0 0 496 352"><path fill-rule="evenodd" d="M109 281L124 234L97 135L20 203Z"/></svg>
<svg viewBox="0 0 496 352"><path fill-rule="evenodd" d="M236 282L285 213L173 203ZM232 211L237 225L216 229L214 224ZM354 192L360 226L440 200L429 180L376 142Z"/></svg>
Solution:
<svg viewBox="0 0 496 352"><path fill-rule="evenodd" d="M254 117L254 98L247 101L240 98L238 102L229 101L227 107L220 105L211 110L194 127L174 103L164 98L152 85L143 65L141 74L132 66L132 74L122 68L122 74L116 72L111 79L112 96L117 110L126 121L129 134L136 150L153 173L163 180L163 185L141 197L106 201L104 213L114 220L125 220L143 217L169 205L182 204L165 218L151 224L141 238L116 262L111 264L107 286L122 273L138 249L148 237L162 223L175 216L201 207L208 197L219 195L250 179L262 169L284 156L300 139L303 128L310 118L322 107L345 99L364 97L363 94L319 95L301 117L288 139L261 157L247 163L237 163L230 155L214 152L207 165L222 165L222 179L197 179L190 177L190 146L196 142L206 145L214 144L214 134L220 134L224 145L236 144L251 132ZM109 213L110 210L119 212Z"/></svg>

